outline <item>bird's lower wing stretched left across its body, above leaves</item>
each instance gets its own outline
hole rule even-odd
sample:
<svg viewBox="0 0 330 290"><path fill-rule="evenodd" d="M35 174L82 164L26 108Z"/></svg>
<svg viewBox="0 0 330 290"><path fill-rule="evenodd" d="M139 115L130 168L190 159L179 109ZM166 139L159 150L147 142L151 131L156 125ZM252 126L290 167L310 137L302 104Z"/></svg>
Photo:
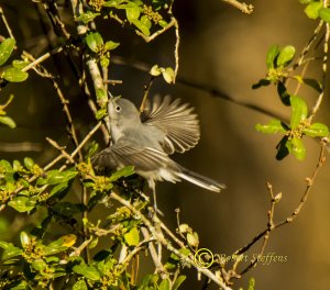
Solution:
<svg viewBox="0 0 330 290"><path fill-rule="evenodd" d="M175 166L175 163L164 152L151 147L136 148L122 142L97 154L92 163L110 169L133 165L136 172L153 171L162 167Z"/></svg>

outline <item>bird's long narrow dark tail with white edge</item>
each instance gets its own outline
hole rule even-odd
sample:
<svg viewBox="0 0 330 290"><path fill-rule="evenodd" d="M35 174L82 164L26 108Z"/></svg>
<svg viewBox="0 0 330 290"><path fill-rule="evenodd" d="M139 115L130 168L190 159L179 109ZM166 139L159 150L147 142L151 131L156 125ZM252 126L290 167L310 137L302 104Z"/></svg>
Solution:
<svg viewBox="0 0 330 290"><path fill-rule="evenodd" d="M227 188L226 185L220 183L211 178L190 171L186 168L180 168L182 171L177 176L210 191L220 192L221 189Z"/></svg>

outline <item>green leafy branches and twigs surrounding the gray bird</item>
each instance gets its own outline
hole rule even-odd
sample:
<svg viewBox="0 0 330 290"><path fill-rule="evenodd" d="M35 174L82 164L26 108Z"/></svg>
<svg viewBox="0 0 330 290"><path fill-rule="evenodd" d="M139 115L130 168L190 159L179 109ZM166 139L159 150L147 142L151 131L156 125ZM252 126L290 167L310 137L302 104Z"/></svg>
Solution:
<svg viewBox="0 0 330 290"><path fill-rule="evenodd" d="M6 238L0 241L2 253L0 288L176 290L183 289L186 280L183 269L196 268L206 277L205 289L210 282L221 289L231 289L235 279L241 278L258 261L255 258L239 270L238 266L241 263L239 258L264 237L265 242L257 257L262 256L271 232L297 216L322 164L323 150L314 178L309 180L304 198L292 216L277 224L273 222L274 209L282 194L274 194L272 186L268 185L271 210L267 213L266 230L256 235L248 246L233 253L234 263L223 260L210 250L202 253L206 248L201 247L198 233L187 223L179 221L179 211L176 232L168 230L144 194L144 180L134 175L133 166L109 174L95 171L91 163L91 156L98 147L91 142L94 134L101 129L105 140L109 141L105 124L108 101L108 82L105 78L108 71L113 69L113 51L117 52L122 47L114 37L109 40L102 35L101 30L98 31L98 21L117 22L120 24L118 27L120 32L133 31L133 35L147 43L173 29L176 35L174 66L155 64L147 70L151 78L148 86L160 76L167 83L174 83L178 71L179 44L178 24L172 12L174 1L73 0L69 1L72 9L68 13L74 24L62 18L54 1L35 2L43 3L58 46L42 56L34 57L16 46L10 25L3 21L10 37L3 38L0 44L0 87L10 87L11 82L29 81L31 69L42 80L50 80L63 105L74 149L69 152L47 138L58 152L58 156L47 165L40 165L29 157L12 163L0 160L0 211L11 210L26 220L32 216L37 220L33 226L26 223L13 241L4 241ZM300 0L300 2L306 4L305 12L308 18L320 21L312 38L315 42L323 22L330 22L330 9L321 1ZM239 5L244 12L251 10L243 3L240 5L234 2L233 5ZM68 30L69 25L74 26L74 32ZM326 30L323 75L327 70L329 25ZM293 154L302 160L306 156L302 143L305 136L322 138L329 135L326 124L314 122L323 97L324 77L319 81L296 74L296 70L305 64L309 48L310 45L301 52L297 63L294 63L296 57L294 46L287 45L282 48L277 45L272 46L266 55L266 77L253 86L257 89L274 85L282 103L290 108L288 122L276 118L267 124L255 126L262 133L282 134L277 145L277 159ZM81 140L77 137L68 100L65 99L55 74L50 72L45 66L46 60L54 54L79 55L79 59L84 63L80 70L76 71L77 82L84 88L88 97L87 102L98 123ZM11 65L8 65L13 56L20 59L13 59ZM86 78L86 75L90 79ZM290 91L287 85L289 79L316 91L317 102L311 110L301 96ZM147 92L146 86L145 94ZM0 123L14 129L14 121L6 112L12 98L10 96L8 101L0 105ZM89 149L86 149L86 144ZM323 143L321 148L324 148ZM79 200L73 198L76 194L79 194ZM94 221L89 217L90 213L103 208L110 213L106 219ZM0 225L1 232L10 231L8 224L0 223ZM166 252L166 255L162 255L162 250ZM154 269L144 277L138 277L139 255L142 253L148 255ZM254 287L255 280L251 278L248 289L252 290Z"/></svg>

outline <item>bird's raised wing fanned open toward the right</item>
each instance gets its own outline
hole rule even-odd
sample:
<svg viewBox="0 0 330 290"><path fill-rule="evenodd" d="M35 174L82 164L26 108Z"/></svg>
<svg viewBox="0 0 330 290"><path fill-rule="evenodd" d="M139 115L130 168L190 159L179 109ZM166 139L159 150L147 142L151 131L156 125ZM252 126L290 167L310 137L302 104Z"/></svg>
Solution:
<svg viewBox="0 0 330 290"><path fill-rule="evenodd" d="M193 110L188 103L180 103L180 99L173 101L169 96L165 96L163 100L160 96L154 98L144 124L155 126L164 133L161 145L167 154L184 153L198 143L199 122L197 115L191 113Z"/></svg>

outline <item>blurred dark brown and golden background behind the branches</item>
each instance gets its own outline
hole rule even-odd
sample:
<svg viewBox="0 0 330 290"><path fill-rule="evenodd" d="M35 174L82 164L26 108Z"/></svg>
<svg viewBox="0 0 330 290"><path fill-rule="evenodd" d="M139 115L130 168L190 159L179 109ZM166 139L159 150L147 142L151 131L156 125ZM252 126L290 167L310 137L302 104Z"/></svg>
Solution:
<svg viewBox="0 0 330 290"><path fill-rule="evenodd" d="M10 25L19 42L19 47L42 55L50 47L44 37L54 41L46 15L38 14L32 1L0 1ZM274 87L252 90L251 86L266 71L265 55L273 44L292 44L299 52L312 35L316 22L304 14L304 7L297 0L252 2L255 7L251 15L219 0L177 1L174 13L180 26L179 74L180 78L194 83L217 88L239 101L249 101L267 108L280 115L288 116ZM64 15L66 14L63 11ZM41 22L41 19L44 22ZM69 21L69 16L67 19ZM44 27L41 26L44 23ZM123 32L117 24L98 23L102 35L121 42L121 56L130 62L144 62L148 67L154 64L173 66L174 32L160 36L151 44L144 43L132 31ZM74 26L72 27L74 32ZM7 35L1 26L1 34ZM114 53L114 54L116 54ZM74 121L80 140L95 125L86 98L69 72L66 59L56 56L46 63L61 76L62 88L70 100ZM319 77L319 67L310 67L309 75ZM59 101L51 85L31 72L28 81L7 86L1 92L15 94L8 113L18 123L15 130L0 129L0 157L22 159L33 157L45 164L55 152L45 142L45 136L59 144L69 144L65 131L65 118ZM110 78L122 79L123 85L112 88L136 103L143 96L143 86L148 76L130 66L113 65ZM200 237L200 246L213 253L231 255L265 228L270 194L266 182L275 192L283 192L283 199L275 210L275 222L287 217L298 204L306 187L305 178L311 176L316 166L319 145L306 141L307 158L304 163L289 156L283 161L275 159L276 135L262 135L254 130L256 123L266 123L270 116L251 109L242 108L208 92L177 82L175 86L156 80L152 93L172 94L196 107L200 118L201 140L196 148L174 158L193 170L224 182L228 189L213 194L183 182L157 186L158 207L165 213L167 224L176 226L175 209L180 209L182 222L188 223ZM316 94L304 91L304 98L312 104ZM329 97L326 93L324 108ZM3 101L2 101L3 102ZM329 122L323 109L317 119ZM97 140L102 145L101 135ZM9 143L33 142L42 146L41 152L10 153L3 145ZM2 149L1 149L2 148ZM329 165L326 164L317 178L311 196L297 220L276 230L271 235L265 255L285 256L285 263L271 263L251 270L235 283L246 288L248 278L256 279L256 289L329 289ZM103 210L103 209L102 209ZM11 238L22 230L24 215L13 212L1 214L1 223L10 223L11 232L0 232L1 238ZM33 223L33 217L31 219ZM1 228L0 228L1 230ZM258 253L257 244L248 256ZM189 282L184 289L200 289L195 270L187 271ZM215 288L216 289L216 288Z"/></svg>

